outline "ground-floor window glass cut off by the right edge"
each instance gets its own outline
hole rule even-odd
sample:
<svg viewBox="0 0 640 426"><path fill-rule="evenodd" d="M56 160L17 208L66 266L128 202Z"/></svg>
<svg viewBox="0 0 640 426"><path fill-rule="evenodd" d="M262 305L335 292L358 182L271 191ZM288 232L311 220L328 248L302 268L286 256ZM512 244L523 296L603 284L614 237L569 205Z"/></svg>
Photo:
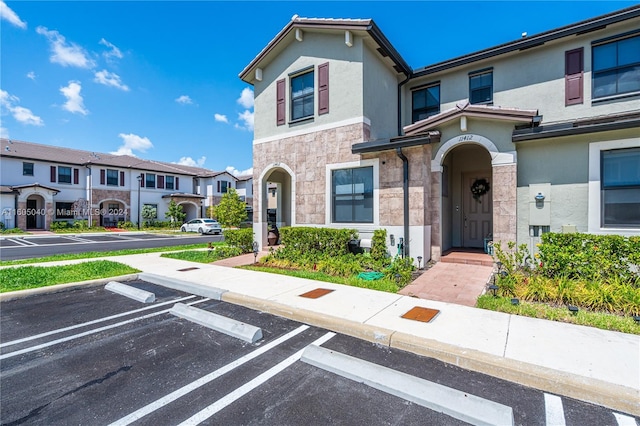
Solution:
<svg viewBox="0 0 640 426"><path fill-rule="evenodd" d="M640 226L640 148L601 155L602 226Z"/></svg>

